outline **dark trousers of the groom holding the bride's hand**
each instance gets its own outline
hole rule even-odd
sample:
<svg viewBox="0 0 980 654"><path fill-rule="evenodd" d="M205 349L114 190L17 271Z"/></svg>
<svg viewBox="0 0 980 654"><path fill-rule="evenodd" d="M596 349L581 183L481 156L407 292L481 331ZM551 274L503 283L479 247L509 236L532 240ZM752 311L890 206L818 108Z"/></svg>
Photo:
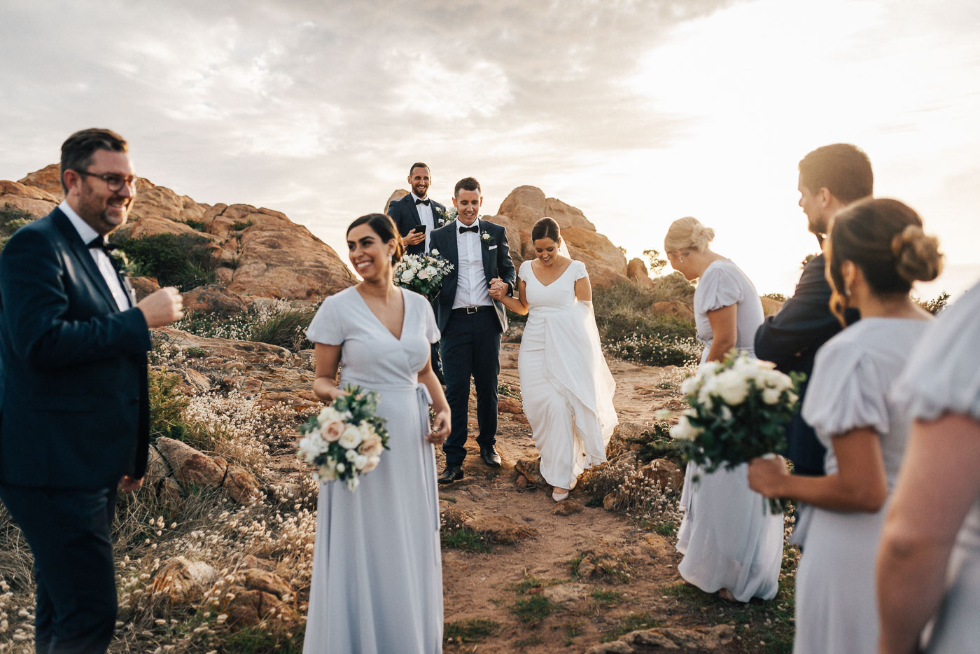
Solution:
<svg viewBox="0 0 980 654"><path fill-rule="evenodd" d="M476 313L455 309L442 332L442 374L452 429L442 445L447 466L462 466L468 437L469 379L476 388L476 442L497 442L497 377L500 375L500 323L493 307Z"/></svg>

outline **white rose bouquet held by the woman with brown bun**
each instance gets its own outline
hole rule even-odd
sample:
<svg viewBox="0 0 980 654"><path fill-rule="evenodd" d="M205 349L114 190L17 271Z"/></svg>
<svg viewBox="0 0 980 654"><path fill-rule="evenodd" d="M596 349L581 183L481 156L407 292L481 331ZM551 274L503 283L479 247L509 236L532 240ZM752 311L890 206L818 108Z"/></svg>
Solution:
<svg viewBox="0 0 980 654"><path fill-rule="evenodd" d="M786 450L786 426L793 417L803 376L786 376L768 361L744 352L723 363L707 363L681 384L690 408L670 429L684 458L705 472L726 470L756 457ZM781 513L779 500L769 510Z"/></svg>

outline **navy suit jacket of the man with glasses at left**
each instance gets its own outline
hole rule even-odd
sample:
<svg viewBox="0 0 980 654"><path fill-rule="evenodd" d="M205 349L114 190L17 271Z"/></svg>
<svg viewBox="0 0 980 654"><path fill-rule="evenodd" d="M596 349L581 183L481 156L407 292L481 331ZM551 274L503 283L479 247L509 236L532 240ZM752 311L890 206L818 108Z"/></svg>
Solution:
<svg viewBox="0 0 980 654"><path fill-rule="evenodd" d="M143 477L146 353L68 217L55 209L0 254L0 483L115 487Z"/></svg>

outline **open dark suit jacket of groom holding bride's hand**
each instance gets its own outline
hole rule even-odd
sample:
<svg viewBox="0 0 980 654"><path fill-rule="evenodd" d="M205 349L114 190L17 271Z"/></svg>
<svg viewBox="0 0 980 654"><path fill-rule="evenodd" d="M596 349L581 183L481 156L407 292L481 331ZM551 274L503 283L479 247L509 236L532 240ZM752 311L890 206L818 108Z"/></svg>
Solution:
<svg viewBox="0 0 980 654"><path fill-rule="evenodd" d="M432 232L430 248L438 250L439 254L453 264L453 270L443 279L442 288L435 300L435 319L442 331L449 323L449 315L453 311L453 301L456 299L456 288L459 282L460 253L457 248L456 236L459 233L458 223L453 221L449 225L439 227ZM508 294L513 294L515 283L514 262L511 261L511 248L507 244L507 229L503 226L490 223L489 221L479 220L480 228L480 249L483 253L483 274L487 277L487 283L494 277L500 277L508 284ZM482 238L483 232L489 234L489 238ZM494 309L497 311L497 321L500 324L501 332L507 331L507 309L499 301L491 298Z"/></svg>

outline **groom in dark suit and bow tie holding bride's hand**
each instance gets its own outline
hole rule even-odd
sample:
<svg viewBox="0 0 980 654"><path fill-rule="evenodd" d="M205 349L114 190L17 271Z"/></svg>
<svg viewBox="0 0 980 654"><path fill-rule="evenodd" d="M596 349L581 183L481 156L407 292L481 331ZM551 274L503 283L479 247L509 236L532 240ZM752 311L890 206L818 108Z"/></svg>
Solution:
<svg viewBox="0 0 980 654"><path fill-rule="evenodd" d="M442 332L446 399L453 413L452 430L442 446L446 469L439 483L463 477L468 436L469 379L476 387L476 422L480 457L500 466L497 453L497 376L500 375L500 336L507 330L507 310L490 297L490 282L513 294L514 263L503 226L479 220L480 184L472 177L456 183L453 204L457 220L432 232L431 247L446 257L453 270L436 298L436 322Z"/></svg>

